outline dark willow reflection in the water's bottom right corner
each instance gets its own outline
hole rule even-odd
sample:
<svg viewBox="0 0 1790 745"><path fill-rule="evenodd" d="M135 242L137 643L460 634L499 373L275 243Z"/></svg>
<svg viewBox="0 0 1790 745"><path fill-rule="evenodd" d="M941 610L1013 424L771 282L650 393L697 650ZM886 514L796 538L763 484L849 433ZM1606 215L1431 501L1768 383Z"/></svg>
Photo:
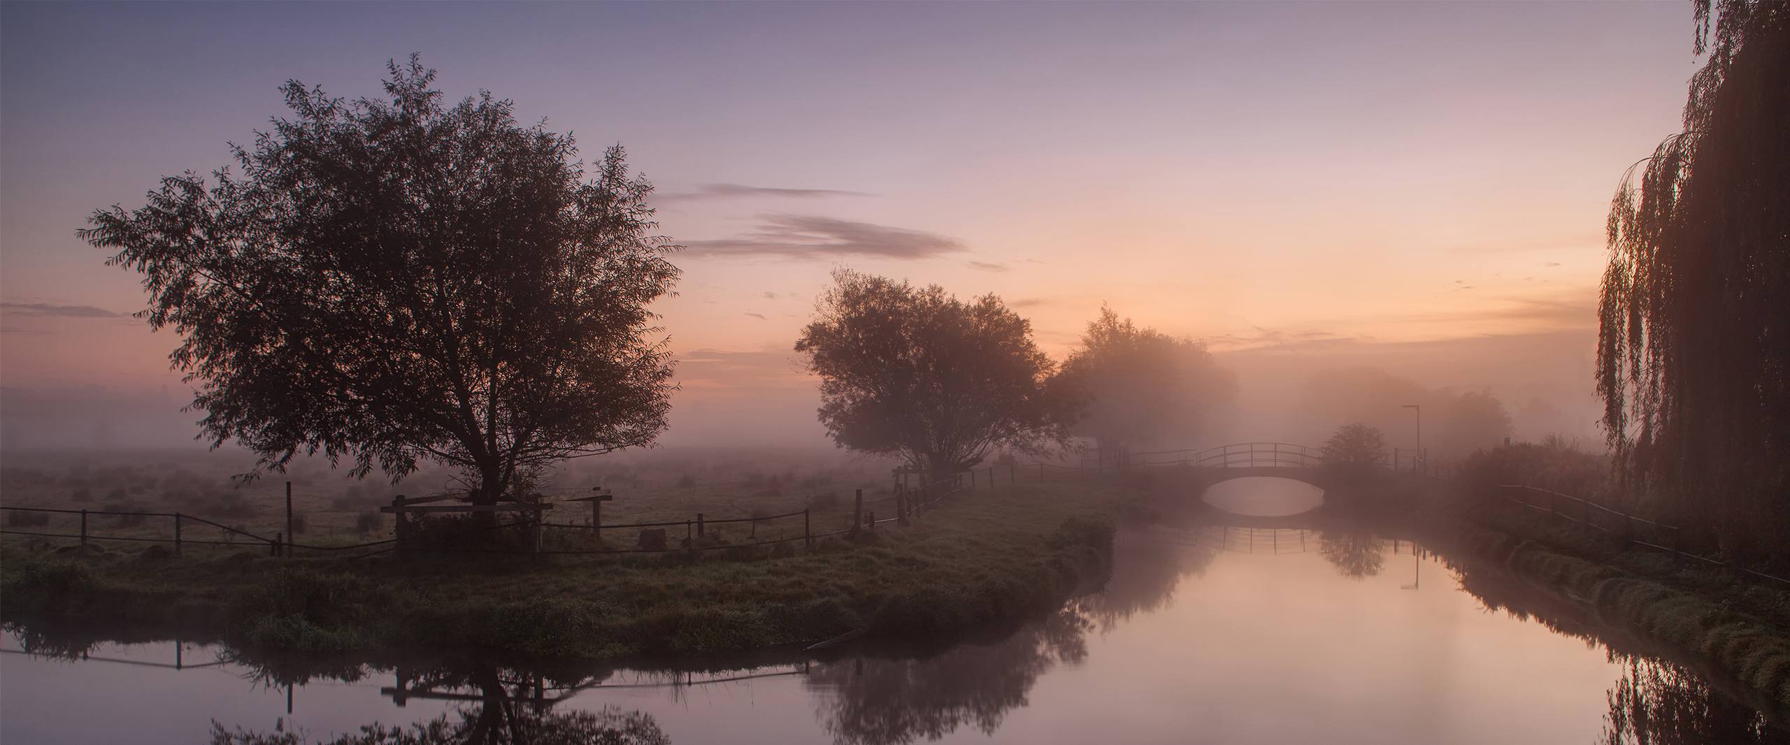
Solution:
<svg viewBox="0 0 1790 745"><path fill-rule="evenodd" d="M1647 657L1629 657L1609 689L1606 745L1779 745L1790 732L1772 729L1765 715L1722 695L1690 670Z"/></svg>

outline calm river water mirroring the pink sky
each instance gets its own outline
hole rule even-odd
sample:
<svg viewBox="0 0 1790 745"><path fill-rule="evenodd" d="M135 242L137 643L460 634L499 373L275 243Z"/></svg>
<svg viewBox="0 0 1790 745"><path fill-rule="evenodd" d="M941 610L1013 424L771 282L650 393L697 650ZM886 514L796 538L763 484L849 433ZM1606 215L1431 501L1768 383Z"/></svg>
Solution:
<svg viewBox="0 0 1790 745"><path fill-rule="evenodd" d="M1282 500L1274 487L1260 485L1264 500ZM1624 639L1409 541L1156 525L1122 532L1106 591L924 659L548 677L369 666L290 686L288 715L288 688L267 672L193 668L215 648L184 645L172 670L172 641L64 661L20 654L9 634L0 741L204 743L213 720L258 732L238 741L328 741L374 722L433 722L449 740L630 743L1790 741L1722 686L1634 657Z"/></svg>

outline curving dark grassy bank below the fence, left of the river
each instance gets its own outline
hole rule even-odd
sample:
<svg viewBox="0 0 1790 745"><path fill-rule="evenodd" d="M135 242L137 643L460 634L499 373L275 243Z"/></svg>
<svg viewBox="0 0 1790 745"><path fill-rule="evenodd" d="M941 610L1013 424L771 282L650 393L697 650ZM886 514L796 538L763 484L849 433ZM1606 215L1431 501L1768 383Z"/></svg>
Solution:
<svg viewBox="0 0 1790 745"><path fill-rule="evenodd" d="M863 630L925 639L1049 609L1108 569L1110 500L1078 484L965 492L813 552L374 557L4 548L9 621L79 620L256 650L741 652Z"/></svg>

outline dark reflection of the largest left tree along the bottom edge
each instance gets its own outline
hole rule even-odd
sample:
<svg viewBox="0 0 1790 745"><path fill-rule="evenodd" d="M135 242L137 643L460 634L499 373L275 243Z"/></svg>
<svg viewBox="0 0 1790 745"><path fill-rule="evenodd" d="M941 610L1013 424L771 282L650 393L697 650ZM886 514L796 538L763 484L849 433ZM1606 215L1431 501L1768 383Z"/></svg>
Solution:
<svg viewBox="0 0 1790 745"><path fill-rule="evenodd" d="M469 670L469 672L467 672ZM211 724L211 745L669 745L659 722L643 711L603 706L598 711L555 711L542 695L544 679L492 664L428 672L396 697L465 700L451 715L408 725L369 724L358 732L313 740L306 732L256 732ZM523 681L523 682L517 682ZM576 688L576 686L573 686ZM532 689L532 693L530 693ZM390 691L388 691L390 693Z"/></svg>

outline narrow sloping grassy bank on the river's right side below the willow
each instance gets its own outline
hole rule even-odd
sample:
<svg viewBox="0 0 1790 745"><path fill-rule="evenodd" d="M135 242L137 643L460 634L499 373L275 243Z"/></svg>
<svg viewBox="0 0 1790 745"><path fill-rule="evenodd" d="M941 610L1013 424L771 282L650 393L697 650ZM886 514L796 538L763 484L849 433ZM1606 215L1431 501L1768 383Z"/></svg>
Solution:
<svg viewBox="0 0 1790 745"><path fill-rule="evenodd" d="M1461 519L1452 543L1470 555L1504 566L1561 600L1588 604L1684 654L1790 713L1790 634L1754 614L1736 611L1733 598L1641 577L1609 562L1575 555L1545 539Z"/></svg>

